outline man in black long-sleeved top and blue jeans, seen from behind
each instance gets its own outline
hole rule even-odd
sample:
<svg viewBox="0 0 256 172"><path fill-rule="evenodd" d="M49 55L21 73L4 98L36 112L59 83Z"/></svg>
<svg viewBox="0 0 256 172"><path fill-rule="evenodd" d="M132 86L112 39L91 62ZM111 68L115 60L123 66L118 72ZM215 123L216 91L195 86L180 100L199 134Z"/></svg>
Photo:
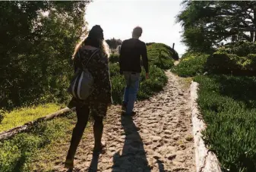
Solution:
<svg viewBox="0 0 256 172"><path fill-rule="evenodd" d="M125 110L125 114L131 116L135 114L134 102L140 86L141 57L146 70L146 79L149 78L147 47L144 42L139 40L141 34L142 28L135 27L132 38L122 42L119 56L120 73L124 74L126 83L122 109Z"/></svg>

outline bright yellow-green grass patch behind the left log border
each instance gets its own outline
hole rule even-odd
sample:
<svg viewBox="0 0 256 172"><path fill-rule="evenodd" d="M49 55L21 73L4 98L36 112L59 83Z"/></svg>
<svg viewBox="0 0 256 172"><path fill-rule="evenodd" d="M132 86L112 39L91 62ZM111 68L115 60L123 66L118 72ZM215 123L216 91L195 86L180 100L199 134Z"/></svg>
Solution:
<svg viewBox="0 0 256 172"><path fill-rule="evenodd" d="M47 114L58 111L58 109L60 109L59 105L49 103L27 108L17 108L14 111L5 112L3 113L0 132L21 126L31 120L36 120L39 117L44 117Z"/></svg>

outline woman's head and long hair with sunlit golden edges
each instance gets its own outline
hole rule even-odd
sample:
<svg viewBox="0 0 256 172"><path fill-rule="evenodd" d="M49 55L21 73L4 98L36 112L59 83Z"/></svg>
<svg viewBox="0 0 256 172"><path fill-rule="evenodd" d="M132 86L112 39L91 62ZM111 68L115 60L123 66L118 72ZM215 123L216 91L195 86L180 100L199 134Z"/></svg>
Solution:
<svg viewBox="0 0 256 172"><path fill-rule="evenodd" d="M109 45L104 40L103 29L100 25L95 25L89 32L87 38L79 42L74 48L74 54L72 59L74 60L74 55L78 52L79 48L83 45L90 45L96 48L100 48L103 55L109 58Z"/></svg>

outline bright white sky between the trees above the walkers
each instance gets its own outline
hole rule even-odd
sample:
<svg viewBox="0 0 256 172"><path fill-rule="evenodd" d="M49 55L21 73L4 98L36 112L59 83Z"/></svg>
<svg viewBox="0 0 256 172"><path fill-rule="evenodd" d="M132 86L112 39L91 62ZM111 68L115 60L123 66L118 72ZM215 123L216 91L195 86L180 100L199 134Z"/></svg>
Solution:
<svg viewBox="0 0 256 172"><path fill-rule="evenodd" d="M141 41L161 42L182 55L182 27L175 16L182 10L182 0L94 0L87 6L85 16L89 30L99 24L105 39L130 39L134 27L143 29Z"/></svg>

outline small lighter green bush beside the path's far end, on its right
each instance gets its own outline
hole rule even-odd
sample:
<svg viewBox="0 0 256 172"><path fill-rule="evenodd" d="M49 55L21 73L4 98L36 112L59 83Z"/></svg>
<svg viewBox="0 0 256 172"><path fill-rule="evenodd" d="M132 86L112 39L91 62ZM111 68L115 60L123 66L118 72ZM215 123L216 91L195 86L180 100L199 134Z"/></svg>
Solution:
<svg viewBox="0 0 256 172"><path fill-rule="evenodd" d="M194 77L195 75L204 73L204 65L209 55L189 55L182 58L180 63L172 68L172 72L180 77Z"/></svg>

